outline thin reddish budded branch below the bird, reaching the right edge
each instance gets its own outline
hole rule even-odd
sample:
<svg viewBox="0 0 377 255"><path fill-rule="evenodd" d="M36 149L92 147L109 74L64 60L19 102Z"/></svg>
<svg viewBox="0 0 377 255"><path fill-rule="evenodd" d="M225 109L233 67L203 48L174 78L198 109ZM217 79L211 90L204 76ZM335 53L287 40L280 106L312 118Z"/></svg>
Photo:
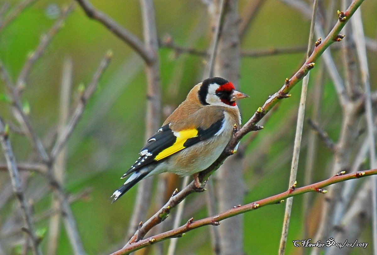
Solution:
<svg viewBox="0 0 377 255"><path fill-rule="evenodd" d="M377 175L377 169L372 169L372 170L366 170L366 171L360 171L356 173L349 173L346 175L336 175L333 176L329 179L326 179L321 182L317 182L311 185L307 185L304 187L300 188L294 188L294 189L288 189L287 191L267 197L265 199L261 199L252 203L248 203L247 205L242 205L242 206L235 206L234 208L221 212L217 215L210 216L204 219L196 220L193 221L190 219L185 225L179 227L178 229L173 229L158 235L154 235L152 237L140 240L136 243L132 243L127 247L124 247L121 250L118 250L111 255L123 255L123 254L129 254L130 252L134 252L136 250L139 250L141 248L144 248L146 246L150 246L152 244L158 243L160 241L169 239L169 238L176 238L176 237L182 237L184 233L191 231L196 228L200 228L202 226L208 226L208 225L219 225L220 221L224 219L228 219L230 217L236 216L238 214L242 214L245 212L250 212L254 211L255 209L261 208L266 205L274 205L274 204L279 204L284 201L284 199L287 199L288 197L293 197L297 196L299 194L304 194L308 192L319 192L319 193L325 193L326 190L323 190L324 187L338 183L338 182L344 182L347 180L351 179L358 179L366 176L371 176L371 175ZM195 185L193 182L189 184L189 186ZM187 187L189 187L187 186ZM177 195L178 196L178 195Z"/></svg>

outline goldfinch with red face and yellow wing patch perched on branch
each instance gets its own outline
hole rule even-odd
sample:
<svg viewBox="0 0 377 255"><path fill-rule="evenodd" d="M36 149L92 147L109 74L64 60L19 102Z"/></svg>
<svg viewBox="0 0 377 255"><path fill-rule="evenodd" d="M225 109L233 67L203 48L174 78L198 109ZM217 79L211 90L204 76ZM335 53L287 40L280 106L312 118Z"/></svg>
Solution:
<svg viewBox="0 0 377 255"><path fill-rule="evenodd" d="M147 140L139 158L121 177L128 178L110 197L112 203L142 179L163 172L193 175L199 188L199 172L215 162L230 141L234 127L241 125L236 100L245 97L249 96L221 77L195 85Z"/></svg>

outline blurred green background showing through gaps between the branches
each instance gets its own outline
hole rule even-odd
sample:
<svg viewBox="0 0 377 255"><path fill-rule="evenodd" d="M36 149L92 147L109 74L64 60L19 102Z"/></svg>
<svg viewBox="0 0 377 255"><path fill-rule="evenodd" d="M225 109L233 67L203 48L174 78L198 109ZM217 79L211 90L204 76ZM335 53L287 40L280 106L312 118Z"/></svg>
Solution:
<svg viewBox="0 0 377 255"><path fill-rule="evenodd" d="M0 6L5 0L0 0ZM7 1L14 7L18 1ZM93 5L112 17L140 39L143 38L141 12L136 0L92 0ZM0 33L0 59L15 81L26 57L38 45L41 35L48 32L60 15L62 6L69 1L38 0L22 12L17 19ZM206 7L201 1L166 1L154 2L156 8L157 31L160 39L166 35L173 38L175 44L206 50L210 44L209 18ZM322 2L327 6L329 1ZM337 9L341 4L337 1ZM239 13L245 13L248 1L239 1ZM365 34L369 38L377 37L377 1L365 1L362 15ZM336 21L336 13L333 15ZM310 20L307 17L277 0L265 1L242 39L241 49L256 50L284 46L305 46L308 40ZM72 204L78 230L88 254L106 254L113 252L123 243L129 225L136 188L132 188L118 202L109 201L113 191L122 184L120 176L134 162L139 149L144 144L144 116L146 110L146 77L144 63L129 46L106 30L101 24L90 20L76 5L68 16L64 27L52 39L44 56L33 66L22 101L30 105L30 118L37 134L44 139L46 146L51 146L51 134L56 130L58 120L61 72L64 59L70 58L74 64L74 81L71 98L71 112L78 99L78 86L89 84L99 62L111 49L113 58L100 79L98 90L90 98L83 118L80 120L67 144L66 190L77 193L91 187L89 197ZM341 51L333 50L334 59L341 62ZM161 68L162 105L176 107L189 90L202 80L205 59L201 56L180 54L161 48L158 52ZM372 88L376 89L377 56L368 52L371 70ZM249 99L239 103L243 123L261 106L267 97L276 92L300 67L305 52L242 58L240 90ZM311 72L309 84L307 117L310 117L313 100L313 87L318 80L316 73L322 61L316 63ZM342 73L343 70L340 70ZM3 83L0 93L6 94ZM300 87L291 91L293 96L284 100L264 125L245 155L245 185L248 193L245 203L262 199L287 189L291 152L293 147ZM337 140L341 116L333 84L325 80L322 104L322 126L333 140ZM11 108L6 100L0 102L0 116L12 120ZM310 131L305 125L304 148L300 158L298 183L303 182L305 165L306 137ZM277 135L278 134L278 135ZM27 161L35 157L27 138L11 135L12 146L18 161ZM0 156L4 162L3 155ZM323 144L319 143L319 155L315 168L315 181L326 178L323 175L331 164L331 155ZM8 173L0 172L0 185L9 182ZM51 203L51 194L47 194L47 185L43 177L34 175L29 182L27 192L34 199L35 213L45 211ZM41 185L42 184L42 185ZM0 186L1 187L1 186ZM177 183L176 187L180 187ZM38 191L38 192L37 192ZM314 194L319 197L320 194ZM203 193L193 194L190 201ZM155 197L152 195L152 202ZM5 221L9 212L16 206L15 201L4 206L0 221ZM244 250L246 254L275 254L279 247L280 232L285 205L272 205L244 215ZM302 196L294 199L288 235L287 254L298 253L292 240L301 239L303 216ZM148 215L152 215L153 208ZM174 214L174 212L173 212ZM203 207L188 218L199 219L207 216ZM315 222L313 222L315 224ZM37 222L38 228L48 227L48 220ZM370 241L370 230L366 229L359 239ZM168 242L164 242L166 247ZM47 246L45 241L42 247ZM151 249L151 248L149 248ZM152 248L153 249L153 248ZM356 251L357 252L357 251ZM371 248L369 251L371 252ZM176 254L211 253L208 227L196 229L178 240ZM58 254L72 254L70 245L62 228ZM355 253L359 254L359 253ZM369 253L365 253L369 254Z"/></svg>

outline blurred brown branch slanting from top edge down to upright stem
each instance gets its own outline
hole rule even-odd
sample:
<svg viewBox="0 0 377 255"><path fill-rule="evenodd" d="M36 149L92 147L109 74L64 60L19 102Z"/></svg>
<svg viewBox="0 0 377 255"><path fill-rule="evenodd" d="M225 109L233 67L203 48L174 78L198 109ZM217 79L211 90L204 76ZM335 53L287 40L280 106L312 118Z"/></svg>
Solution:
<svg viewBox="0 0 377 255"><path fill-rule="evenodd" d="M150 64L153 61L155 61L155 54L150 52L135 35L130 33L128 30L124 29L124 27L120 26L118 23L112 20L112 18L108 17L103 12L95 9L89 1L76 0L76 2L78 2L78 4L83 8L84 12L89 18L97 20L105 27L107 27L109 31L111 31L114 35L118 36L132 49L134 49L147 64Z"/></svg>

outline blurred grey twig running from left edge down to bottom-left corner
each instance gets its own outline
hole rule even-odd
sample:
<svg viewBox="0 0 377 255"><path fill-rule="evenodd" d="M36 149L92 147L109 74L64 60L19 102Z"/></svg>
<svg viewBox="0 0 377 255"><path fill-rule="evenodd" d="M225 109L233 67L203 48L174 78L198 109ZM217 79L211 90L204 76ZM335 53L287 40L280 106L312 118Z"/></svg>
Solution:
<svg viewBox="0 0 377 255"><path fill-rule="evenodd" d="M2 144L5 159L8 165L9 175L11 177L12 187L15 193L15 196L20 203L21 214L25 225L28 229L28 234L31 238L32 251L35 255L42 254L41 248L39 246L39 238L35 232L34 223L32 220L31 210L29 208L28 202L26 201L25 194L20 182L20 177L18 175L18 169L15 157L13 155L11 143L9 142L9 134L6 130L6 127L3 124L3 121L0 119L0 142Z"/></svg>

